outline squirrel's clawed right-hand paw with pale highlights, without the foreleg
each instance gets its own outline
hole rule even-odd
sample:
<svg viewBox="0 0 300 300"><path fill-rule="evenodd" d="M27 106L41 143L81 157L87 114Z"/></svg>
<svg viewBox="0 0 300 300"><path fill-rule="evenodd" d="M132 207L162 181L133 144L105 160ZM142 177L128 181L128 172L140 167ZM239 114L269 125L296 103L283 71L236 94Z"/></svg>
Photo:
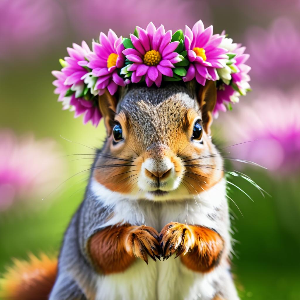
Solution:
<svg viewBox="0 0 300 300"><path fill-rule="evenodd" d="M164 260L176 252L176 257L187 253L194 243L193 233L186 224L171 222L161 230L160 247Z"/></svg>

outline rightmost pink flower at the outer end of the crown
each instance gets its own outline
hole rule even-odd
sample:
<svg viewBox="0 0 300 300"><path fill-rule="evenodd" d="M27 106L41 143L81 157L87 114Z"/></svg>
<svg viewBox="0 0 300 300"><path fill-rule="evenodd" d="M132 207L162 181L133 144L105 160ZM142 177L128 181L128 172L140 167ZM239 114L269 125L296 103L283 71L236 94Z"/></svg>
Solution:
<svg viewBox="0 0 300 300"><path fill-rule="evenodd" d="M250 81L250 76L248 73L251 68L245 64L249 58L249 54L244 53L245 49L246 47L239 47L239 45L236 44L236 48L231 51L231 53L235 54L231 65L235 71L230 74L230 85L223 83L217 88L217 103L213 111L215 118L218 117L219 111L226 112L226 104L237 103L239 101L238 96L246 95L246 92L250 90L250 85L248 83Z"/></svg>

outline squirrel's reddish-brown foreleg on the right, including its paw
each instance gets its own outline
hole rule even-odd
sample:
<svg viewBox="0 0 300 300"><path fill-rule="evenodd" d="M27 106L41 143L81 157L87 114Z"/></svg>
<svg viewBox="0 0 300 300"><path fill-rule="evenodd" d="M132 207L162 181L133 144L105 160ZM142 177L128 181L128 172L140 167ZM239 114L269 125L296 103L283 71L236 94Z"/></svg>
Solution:
<svg viewBox="0 0 300 300"><path fill-rule="evenodd" d="M209 228L172 222L160 233L164 259L176 252L187 268L208 272L217 265L223 250L220 235Z"/></svg>

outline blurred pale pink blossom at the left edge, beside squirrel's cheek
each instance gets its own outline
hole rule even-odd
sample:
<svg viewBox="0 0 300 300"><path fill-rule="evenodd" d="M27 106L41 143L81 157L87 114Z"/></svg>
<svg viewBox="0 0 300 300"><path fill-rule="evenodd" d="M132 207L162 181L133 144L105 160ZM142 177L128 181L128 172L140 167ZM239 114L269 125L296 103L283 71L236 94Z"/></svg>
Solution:
<svg viewBox="0 0 300 300"><path fill-rule="evenodd" d="M18 202L42 201L64 174L65 162L54 140L0 131L0 211Z"/></svg>

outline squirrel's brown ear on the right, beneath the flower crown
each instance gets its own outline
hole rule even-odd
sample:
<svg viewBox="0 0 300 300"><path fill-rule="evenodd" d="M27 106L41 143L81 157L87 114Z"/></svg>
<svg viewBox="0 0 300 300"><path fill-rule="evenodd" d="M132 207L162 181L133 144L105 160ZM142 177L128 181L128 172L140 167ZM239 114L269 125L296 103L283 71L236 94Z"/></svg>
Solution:
<svg viewBox="0 0 300 300"><path fill-rule="evenodd" d="M204 130L210 135L210 126L213 121L212 111L217 101L217 88L212 80L206 80L205 85L201 85L197 93Z"/></svg>

